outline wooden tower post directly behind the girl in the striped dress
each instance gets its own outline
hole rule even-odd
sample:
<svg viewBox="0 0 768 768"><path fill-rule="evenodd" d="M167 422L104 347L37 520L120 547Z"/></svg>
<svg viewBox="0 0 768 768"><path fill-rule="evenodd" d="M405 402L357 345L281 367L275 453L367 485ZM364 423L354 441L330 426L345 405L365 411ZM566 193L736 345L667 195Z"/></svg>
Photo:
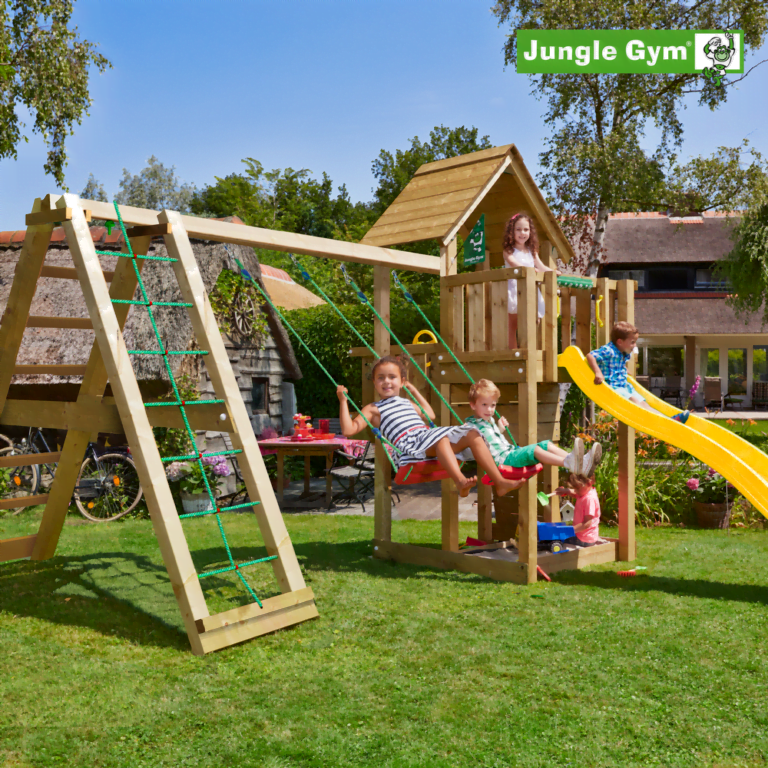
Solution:
<svg viewBox="0 0 768 768"><path fill-rule="evenodd" d="M375 266L373 268L373 306L384 318L387 325L390 325L389 290L389 269ZM389 331L378 318L375 319L373 321L373 348L380 357L386 357L391 351L390 345ZM374 467L373 537L377 541L392 541L392 466L381 440L376 441Z"/></svg>

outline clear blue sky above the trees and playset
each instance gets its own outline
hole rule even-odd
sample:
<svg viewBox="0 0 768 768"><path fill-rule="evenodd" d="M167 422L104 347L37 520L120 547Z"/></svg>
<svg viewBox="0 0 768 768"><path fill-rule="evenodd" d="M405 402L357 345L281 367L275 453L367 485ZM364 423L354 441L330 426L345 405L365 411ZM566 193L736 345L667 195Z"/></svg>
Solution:
<svg viewBox="0 0 768 768"><path fill-rule="evenodd" d="M197 186L238 171L326 171L353 200L369 200L371 162L435 126L476 126L514 142L536 175L547 136L544 104L504 68L506 29L490 1L77 0L82 37L114 68L94 74L90 116L68 141L67 184L89 173L107 193L122 169L154 154ZM768 58L768 45L747 68ZM710 112L691 99L682 156L744 137L768 156L768 64ZM655 138L649 132L648 148ZM21 229L35 197L56 192L38 137L0 163L0 229Z"/></svg>

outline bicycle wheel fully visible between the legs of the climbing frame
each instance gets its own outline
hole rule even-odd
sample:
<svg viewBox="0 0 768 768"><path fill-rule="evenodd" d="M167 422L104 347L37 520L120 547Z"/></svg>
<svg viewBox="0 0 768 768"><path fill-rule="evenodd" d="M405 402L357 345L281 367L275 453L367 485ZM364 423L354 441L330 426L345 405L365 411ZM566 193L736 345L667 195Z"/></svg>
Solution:
<svg viewBox="0 0 768 768"><path fill-rule="evenodd" d="M136 465L120 453L87 458L77 476L74 499L80 514L95 523L119 520L143 494Z"/></svg>

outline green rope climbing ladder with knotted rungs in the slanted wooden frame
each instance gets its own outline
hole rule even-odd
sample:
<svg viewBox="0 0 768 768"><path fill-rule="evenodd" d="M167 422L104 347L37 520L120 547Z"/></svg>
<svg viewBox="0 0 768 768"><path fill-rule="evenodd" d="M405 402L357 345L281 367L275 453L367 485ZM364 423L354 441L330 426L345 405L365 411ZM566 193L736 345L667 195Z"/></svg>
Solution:
<svg viewBox="0 0 768 768"><path fill-rule="evenodd" d="M168 378L170 379L171 386L173 388L173 393L176 396L176 402L169 401L168 403L144 403L144 405L146 407L160 406L160 405L177 406L179 408L180 412L181 412L181 417L184 420L184 428L185 428L185 430L187 432L187 437L190 439L190 441L192 442L192 445L194 446L195 445L195 434L192 431L192 427L189 424L189 419L187 418L186 406L188 406L188 405L203 405L204 403L222 403L224 401L223 400L207 400L207 401L206 400L196 400L196 401L187 402L187 401L182 399L181 393L179 392L179 388L178 388L178 386L176 384L176 378L173 375L173 370L171 369L171 364L170 364L170 362L168 360L169 355L179 355L179 354L201 354L201 355L207 355L208 352L207 351L198 351L198 352L194 352L194 353L186 353L186 352L172 352L170 350L167 350L165 348L165 346L163 345L162 338L160 336L160 331L158 330L157 324L155 323L155 318L154 318L154 316L152 314L152 307L153 306L155 306L155 307L191 307L193 305L185 303L185 302L162 302L162 301L153 302L153 301L150 301L149 296L147 295L146 287L144 286L144 281L141 279L141 273L139 272L138 265L137 265L137 259L145 259L145 260L149 260L149 261L166 261L166 262L176 262L176 261L178 261L178 259L164 258L164 257L160 257L160 256L137 256L136 254L134 254L133 248L131 247L131 242L128 239L128 233L125 231L125 224L123 223L123 217L120 215L120 208L118 207L117 202L114 202L113 205L115 206L115 213L117 214L117 221L118 221L118 224L120 225L120 230L123 233L123 238L125 240L125 245L126 245L126 247L128 249L128 253L115 254L113 251L96 251L96 253L97 254L101 254L101 255L109 255L109 256L117 255L117 256L119 256L121 258L131 259L131 264L133 265L133 271L134 271L134 273L136 275L136 280L138 281L139 288L141 289L141 295L143 297L143 301L126 301L126 300L121 300L121 299L113 299L112 303L113 304L135 304L135 305L138 305L138 306L146 307L147 314L149 315L150 323L152 324L152 330L154 331L154 334L155 334L155 339L157 341L158 346L160 347L159 351L156 351L156 350L132 349L132 350L129 350L128 353L132 354L132 355L162 355L163 362L165 364L165 368L166 368L166 371L168 373ZM251 595L251 597L258 603L260 608L263 608L263 604L262 604L261 600L259 600L259 598L256 595L256 593L251 588L251 585L248 584L248 582L243 577L242 573L240 573L240 569L244 568L246 566L249 566L249 565L255 565L256 563L263 563L263 562L266 562L268 560L275 560L277 558L277 555L271 555L269 557L263 557L263 558L260 558L258 560L249 560L248 562L239 563L239 564L236 563L234 557L232 556L232 550L230 549L229 542L227 540L227 535L224 532L224 525L221 522L221 515L220 515L221 512L229 512L230 510L233 510L233 509L240 509L242 507L254 507L257 504L260 504L261 502L253 501L253 502L249 502L247 504L236 504L236 505L231 506L231 507L218 507L216 505L216 499L215 499L215 497L213 495L213 491L211 490L211 486L210 486L210 484L208 482L208 478L207 478L207 476L205 474L205 465L203 464L203 458L204 457L208 457L208 456L231 456L231 455L235 455L235 454L238 454L238 453L242 453L242 451L238 449L238 450L232 450L232 451L216 451L215 453L201 454L200 451L198 451L197 448L195 447L195 453L194 454L191 454L189 456L166 456L166 457L162 458L162 461L165 463L165 462L170 462L170 461L195 460L197 462L197 465L200 468L200 472L201 472L202 477L203 477L203 483L205 485L205 489L206 489L206 492L208 494L208 498L209 498L209 500L211 502L211 506L212 506L211 510L206 510L204 512L192 512L192 513L185 514L185 515L179 515L179 518L184 519L184 518L188 518L188 517L202 517L202 516L205 516L205 515L216 515L216 522L218 524L219 533L221 534L221 539L222 539L222 542L224 544L224 549L225 549L225 551L227 553L227 559L229 560L229 565L224 567L224 568L217 568L216 570L213 570L213 571L207 571L207 572L204 572L204 573L199 573L198 574L198 578L199 579L203 579L203 578L206 578L207 576L213 576L214 574L228 573L228 572L234 571L235 574L240 579L240 581L245 586L245 588L248 591L248 593Z"/></svg>

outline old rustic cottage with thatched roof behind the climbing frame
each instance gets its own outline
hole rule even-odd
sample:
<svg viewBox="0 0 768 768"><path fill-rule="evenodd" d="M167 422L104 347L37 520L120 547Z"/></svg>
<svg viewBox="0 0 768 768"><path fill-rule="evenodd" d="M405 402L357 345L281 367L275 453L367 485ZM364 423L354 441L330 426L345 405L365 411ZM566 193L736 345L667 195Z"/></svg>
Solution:
<svg viewBox="0 0 768 768"><path fill-rule="evenodd" d="M120 251L123 237L115 228L111 234L105 227L94 226L91 236L96 247L104 251ZM18 232L0 232L0 314L5 311L8 295L13 281L24 230ZM237 258L246 266L251 275L270 293L272 285L279 286L280 299L276 302L283 306L308 306L309 302L322 303L302 286L297 285L290 276L279 269L265 268L268 277L262 274L262 267L252 248L240 245L224 246L211 241L192 240L192 247L200 267L205 287L210 294L224 269L235 267ZM162 239L156 239L150 246L149 255L166 255ZM100 256L102 267L112 270L117 257ZM64 230L53 230L50 248L46 255L46 266L72 267L72 257L66 244ZM235 267L236 268L236 267ZM170 264L166 262L146 261L142 271L148 293L155 301L181 301L175 276ZM307 296L309 294L309 296ZM311 297L311 298L310 298ZM140 298L138 295L136 298ZM258 303L258 302L257 302ZM246 305L248 314L251 305ZM222 336L232 367L237 377L243 400L251 417L254 432L258 435L267 427L278 432L286 431L292 425L295 413L293 380L302 374L291 346L288 334L280 323L274 310L266 303L256 312L263 312L267 321L267 332L251 338L238 331L236 318L219 316L220 326L227 327ZM80 285L72 280L40 278L30 315L58 315L71 318L87 318L88 312L83 300ZM168 349L189 350L194 343L192 324L184 310L157 308L155 316L163 343ZM87 322L85 325L87 326ZM78 365L87 362L87 356L93 343L93 331L85 328L46 328L28 324L20 350L18 364L61 364ZM242 322L240 323L242 326ZM146 312L136 312L131 308L125 328L125 338L129 348L155 349L157 343ZM162 359L154 355L139 355L132 359L134 370L140 385L155 394L168 388L168 376L163 368ZM175 356L172 360L174 375L187 374L201 393L213 392L213 386L205 370L202 356ZM44 385L48 389L72 388L79 386L79 377L61 377L53 375L15 376L12 387L23 389L26 385ZM51 399L58 399L52 396ZM209 437L214 437L210 435Z"/></svg>

